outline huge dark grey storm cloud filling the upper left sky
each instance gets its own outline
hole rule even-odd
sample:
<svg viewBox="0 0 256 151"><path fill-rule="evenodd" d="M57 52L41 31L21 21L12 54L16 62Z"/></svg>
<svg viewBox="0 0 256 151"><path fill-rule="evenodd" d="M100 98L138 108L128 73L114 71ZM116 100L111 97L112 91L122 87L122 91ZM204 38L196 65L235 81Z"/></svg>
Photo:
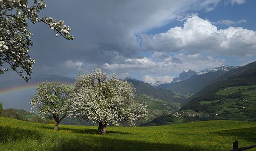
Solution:
<svg viewBox="0 0 256 151"><path fill-rule="evenodd" d="M193 12L215 8L219 2L47 1L47 8L40 12L40 16L63 19L71 26L71 34L75 40L67 41L55 37L44 24L31 24L34 42L31 56L36 58L36 66L39 67L59 64L63 60L102 65L127 58L142 58L140 53L143 50L136 35L167 25L170 21L176 20L177 16L184 19L195 15ZM56 12L56 8L62 9Z"/></svg>

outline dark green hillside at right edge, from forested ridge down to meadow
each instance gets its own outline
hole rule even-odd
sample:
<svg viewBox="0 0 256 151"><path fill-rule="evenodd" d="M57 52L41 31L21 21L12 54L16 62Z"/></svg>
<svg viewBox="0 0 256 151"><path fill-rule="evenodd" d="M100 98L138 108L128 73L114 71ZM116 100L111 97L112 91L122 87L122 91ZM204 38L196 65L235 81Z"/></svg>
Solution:
<svg viewBox="0 0 256 151"><path fill-rule="evenodd" d="M180 112L208 119L256 120L256 62L224 73L197 93ZM214 115L215 114L215 115Z"/></svg>

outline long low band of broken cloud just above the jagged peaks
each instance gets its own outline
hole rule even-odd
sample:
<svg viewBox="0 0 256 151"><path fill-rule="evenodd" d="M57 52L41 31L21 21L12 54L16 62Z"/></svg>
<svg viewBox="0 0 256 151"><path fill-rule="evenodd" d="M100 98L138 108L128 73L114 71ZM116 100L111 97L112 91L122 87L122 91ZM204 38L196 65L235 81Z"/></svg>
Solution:
<svg viewBox="0 0 256 151"><path fill-rule="evenodd" d="M186 52L179 52L174 56L169 56L161 61L148 57L140 59L126 59L122 63L106 63L105 65L102 65L102 68L108 71L117 71L120 73L140 72L151 75L152 77L163 77L164 75L174 77L176 73L179 73L182 70L193 69L200 71L203 68L213 68L223 64L224 60L222 59L203 56L199 53L187 54ZM172 73L175 73L175 75Z"/></svg>

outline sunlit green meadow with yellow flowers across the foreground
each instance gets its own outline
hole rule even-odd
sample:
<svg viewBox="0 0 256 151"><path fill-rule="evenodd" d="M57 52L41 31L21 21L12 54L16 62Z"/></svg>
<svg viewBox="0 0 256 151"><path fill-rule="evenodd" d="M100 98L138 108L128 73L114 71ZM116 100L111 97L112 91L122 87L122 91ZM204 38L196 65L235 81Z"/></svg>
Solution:
<svg viewBox="0 0 256 151"><path fill-rule="evenodd" d="M229 150L256 144L256 123L204 121L153 127L53 125L0 117L0 150ZM253 150L253 149L252 149Z"/></svg>

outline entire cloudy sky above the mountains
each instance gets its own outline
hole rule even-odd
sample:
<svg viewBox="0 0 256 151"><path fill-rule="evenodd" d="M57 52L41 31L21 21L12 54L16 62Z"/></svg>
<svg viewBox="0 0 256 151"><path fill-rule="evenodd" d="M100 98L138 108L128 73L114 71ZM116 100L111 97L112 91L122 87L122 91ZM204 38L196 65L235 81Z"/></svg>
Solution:
<svg viewBox="0 0 256 151"><path fill-rule="evenodd" d="M31 24L33 76L75 77L99 67L119 78L171 82L183 70L256 61L253 0L51 0L40 17L64 20L73 41ZM18 78L14 71L0 82ZM21 79L22 80L22 79Z"/></svg>

